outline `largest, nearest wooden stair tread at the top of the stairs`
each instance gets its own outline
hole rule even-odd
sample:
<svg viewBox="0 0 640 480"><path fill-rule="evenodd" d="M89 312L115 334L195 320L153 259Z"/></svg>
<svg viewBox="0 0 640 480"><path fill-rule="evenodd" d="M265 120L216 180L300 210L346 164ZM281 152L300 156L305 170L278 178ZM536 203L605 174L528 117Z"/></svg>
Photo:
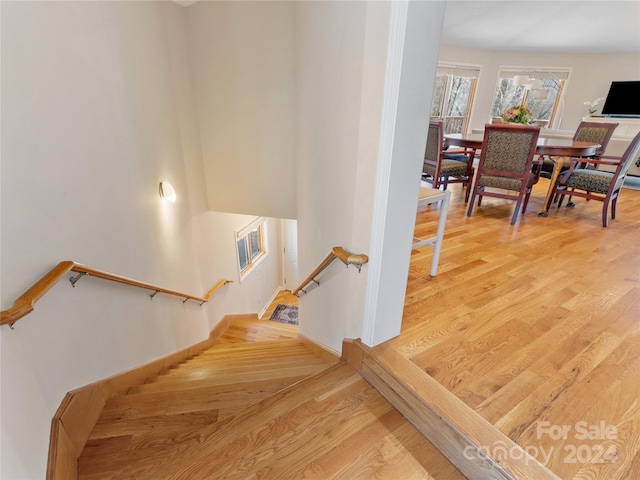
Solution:
<svg viewBox="0 0 640 480"><path fill-rule="evenodd" d="M141 435L114 438L111 445L105 442L109 453L92 451L81 458L79 478L370 478L363 475L376 470L388 472L389 478L418 472L417 478L432 478L424 473L420 457L438 456L343 362L224 422L181 435L163 448L160 461L143 453L157 446L136 441ZM122 446L128 448L123 451ZM100 472L94 470L98 467ZM445 475L440 478L464 478L451 464Z"/></svg>

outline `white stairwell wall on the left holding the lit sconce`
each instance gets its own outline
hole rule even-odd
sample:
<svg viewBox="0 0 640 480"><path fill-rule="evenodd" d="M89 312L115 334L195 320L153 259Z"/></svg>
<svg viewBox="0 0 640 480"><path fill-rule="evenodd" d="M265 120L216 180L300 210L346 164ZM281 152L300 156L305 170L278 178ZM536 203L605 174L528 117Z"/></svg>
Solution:
<svg viewBox="0 0 640 480"><path fill-rule="evenodd" d="M271 253L239 284L233 232L253 216L208 211L182 7L2 2L1 21L1 308L66 259L193 294L235 280L203 307L63 280L3 326L0 477L36 479L66 392L263 307L280 279L279 226L268 221Z"/></svg>

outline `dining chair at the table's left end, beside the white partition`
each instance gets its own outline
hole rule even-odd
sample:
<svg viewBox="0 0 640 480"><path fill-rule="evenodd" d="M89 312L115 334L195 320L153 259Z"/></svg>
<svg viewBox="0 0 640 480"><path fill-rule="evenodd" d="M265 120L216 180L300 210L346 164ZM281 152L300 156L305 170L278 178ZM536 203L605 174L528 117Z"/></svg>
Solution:
<svg viewBox="0 0 640 480"><path fill-rule="evenodd" d="M424 152L422 179L433 188L447 189L450 183L462 183L466 187L465 202L469 200L469 186L473 179L473 150L463 150L461 157L447 158L443 149L444 136L441 121L430 121L427 146ZM449 153L448 155L451 155Z"/></svg>

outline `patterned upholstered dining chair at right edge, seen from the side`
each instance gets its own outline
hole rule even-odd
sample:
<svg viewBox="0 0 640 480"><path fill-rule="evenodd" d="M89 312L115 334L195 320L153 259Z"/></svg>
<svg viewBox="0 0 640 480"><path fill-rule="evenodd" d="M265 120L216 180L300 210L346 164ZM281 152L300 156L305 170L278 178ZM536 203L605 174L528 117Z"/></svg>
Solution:
<svg viewBox="0 0 640 480"><path fill-rule="evenodd" d="M608 210L611 205L611 218L616 218L616 204L620 197L620 190L624 178L629 171L631 164L640 155L640 133L638 133L627 147L622 157L602 156L595 158L572 158L571 165L567 172L560 177L560 181L554 186L549 197L559 195L558 208L562 206L565 195L583 197L587 200L598 200L602 205L602 226L609 225ZM598 170L599 165L615 166L614 172ZM593 166L596 168L589 168ZM569 206L569 205L567 205ZM573 205L571 205L573 206ZM548 209L550 205L546 205Z"/></svg>

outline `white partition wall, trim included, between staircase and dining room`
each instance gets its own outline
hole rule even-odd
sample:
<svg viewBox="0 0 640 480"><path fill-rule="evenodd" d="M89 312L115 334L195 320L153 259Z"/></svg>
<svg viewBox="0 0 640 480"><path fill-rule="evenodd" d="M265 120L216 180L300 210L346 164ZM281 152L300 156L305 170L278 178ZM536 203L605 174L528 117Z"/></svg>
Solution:
<svg viewBox="0 0 640 480"><path fill-rule="evenodd" d="M335 263L322 287L300 299L301 333L338 351L345 336L363 337L365 324L373 343L397 335L402 318L443 4L408 4L408 21L396 22L406 23L406 31L391 43L400 48L401 73L390 79L395 8L386 2L296 8L300 271L310 272L334 245L370 254L362 274ZM398 82L396 96L383 104L391 81ZM390 128L382 131L385 121ZM373 318L364 318L366 301L374 304Z"/></svg>

